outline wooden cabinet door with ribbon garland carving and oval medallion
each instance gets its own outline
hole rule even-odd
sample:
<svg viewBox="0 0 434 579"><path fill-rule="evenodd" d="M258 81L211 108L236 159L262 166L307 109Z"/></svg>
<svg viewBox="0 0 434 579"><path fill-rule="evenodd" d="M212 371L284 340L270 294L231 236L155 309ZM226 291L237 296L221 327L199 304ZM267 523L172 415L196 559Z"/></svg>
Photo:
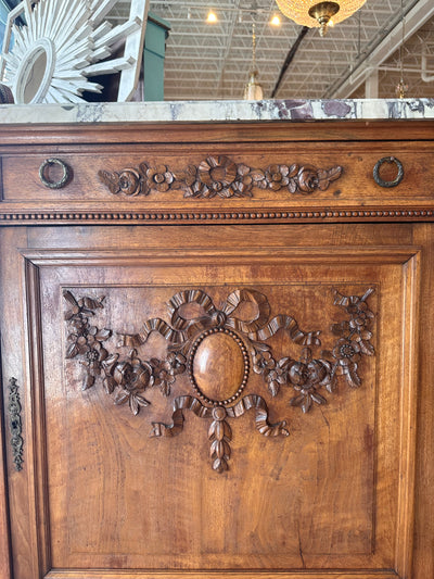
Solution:
<svg viewBox="0 0 434 579"><path fill-rule="evenodd" d="M4 229L13 577L426 577L431 236Z"/></svg>

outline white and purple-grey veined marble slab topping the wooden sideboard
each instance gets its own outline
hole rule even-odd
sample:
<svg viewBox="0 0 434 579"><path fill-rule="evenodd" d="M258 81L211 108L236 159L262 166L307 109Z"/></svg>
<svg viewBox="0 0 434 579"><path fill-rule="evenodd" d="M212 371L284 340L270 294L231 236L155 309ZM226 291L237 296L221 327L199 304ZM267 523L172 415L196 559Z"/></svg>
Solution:
<svg viewBox="0 0 434 579"><path fill-rule="evenodd" d="M1 104L1 125L434 118L434 99Z"/></svg>

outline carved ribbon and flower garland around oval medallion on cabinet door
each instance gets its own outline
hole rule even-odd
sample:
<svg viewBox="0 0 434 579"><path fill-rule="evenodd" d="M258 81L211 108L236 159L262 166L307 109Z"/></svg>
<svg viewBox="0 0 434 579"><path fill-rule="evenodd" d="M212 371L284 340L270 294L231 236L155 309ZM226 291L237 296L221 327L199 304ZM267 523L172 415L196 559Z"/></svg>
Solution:
<svg viewBox="0 0 434 579"><path fill-rule="evenodd" d="M215 470L228 468L232 432L229 419L243 416L253 408L256 428L266 436L288 436L286 421L268 421L268 406L257 393L244 395L251 370L261 377L264 393L277 397L282 389L291 392L289 404L303 413L315 404L327 403L324 391L333 394L342 376L352 388L361 386L359 364L365 356L373 356L371 326L374 314L368 306L373 292L344 295L334 290L333 304L342 309L346 318L331 325L335 342L331 351L315 354L321 347L320 330L304 331L288 314L271 317L265 294L254 289L232 291L220 309L200 289L182 290L168 303L169 322L151 318L138 333L117 333L118 349L108 351L112 329L99 329L91 318L103 309L104 298L76 299L68 290L64 298L68 305L65 319L68 326L66 358L77 358L85 367L82 389L102 382L114 403L128 404L133 415L151 403L145 398L150 388L158 388L171 401L171 424L152 423L153 437L173 437L182 431L184 411L200 418L210 419L208 439L210 460ZM186 306L193 304L193 309ZM248 304L254 314L240 318L239 309ZM194 312L194 315L189 312ZM298 358L291 355L277 358L267 340L284 331L301 348ZM152 332L167 341L164 360L142 360L138 349L146 344ZM230 360L230 365L221 361ZM192 393L173 397L171 386L180 375L188 376Z"/></svg>

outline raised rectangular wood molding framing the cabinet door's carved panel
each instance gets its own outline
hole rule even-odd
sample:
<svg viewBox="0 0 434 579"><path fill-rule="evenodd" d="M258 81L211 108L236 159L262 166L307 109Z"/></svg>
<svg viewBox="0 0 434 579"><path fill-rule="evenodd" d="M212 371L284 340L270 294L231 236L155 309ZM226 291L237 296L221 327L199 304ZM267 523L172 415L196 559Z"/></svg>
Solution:
<svg viewBox="0 0 434 579"><path fill-rule="evenodd" d="M264 261L267 255L266 249L263 251L256 250L253 254L252 251L245 251L245 256L243 257L242 251L240 250L226 250L225 261L229 263L239 263L240 259L242 261L252 260L257 262ZM327 250L323 249L312 249L306 252L305 249L295 250L292 248L281 249L280 251L273 251L272 261L276 263L285 263L288 261L289 252L291 251L291 259L295 263L306 263L306 262L316 262L318 260L323 260L324 263L332 263L335 260L335 256L331 256ZM216 252L209 252L209 250L190 250L183 251L182 262L186 264L194 264L200 260L201 263L214 262L216 259ZM307 254L309 255L307 257ZM41 576L44 576L48 572L47 577L55 579L66 579L67 577L73 577L76 571L67 570L50 570L50 540L49 540L49 525L48 525L48 508L49 505L44 496L44 480L47 477L47 471L44 467L44 442L43 433L46 429L44 425L44 412L43 412L43 388L42 388L42 376L43 368L41 363L34 364L34 360L41 360L39 354L40 352L40 299L39 299L39 268L40 267L55 267L59 265L76 265L77 263L82 263L82 260L86 260L88 265L92 267L97 266L107 266L107 265L119 265L124 263L125 265L135 265L143 263L143 260L146 260L146 263L156 263L158 265L169 265L174 263L174 255L170 255L170 251L166 249L162 250L146 250L143 254L140 252L135 252L135 255L131 256L131 252L128 250L122 251L101 251L101 250L75 250L75 251L65 251L65 250L24 250L22 251L25 263L25 276L27 280L27 303L29 304L28 318L30 327L29 336L29 367L31 370L31 400L28 401L28 404L34 408L33 415L35 425L28 425L28 430L34 430L34 444L35 451L33 454L35 456L35 471L37 473L35 477L35 513L36 518L39 523L36 524L36 532L38 536L37 549L38 552L38 567L39 572L42 572ZM221 255L221 253L220 253ZM412 553L412 494L413 494L413 456L414 456L414 445L416 445L416 388L417 388L417 373L414 370L417 366L417 320L418 320L418 288L419 288L419 267L420 267L420 250L414 247L384 247L384 248L372 248L372 249L360 249L360 252L355 252L355 248L348 248L343 250L341 255L342 260L345 263L355 265L357 263L369 263L372 260L375 260L381 263L390 264L400 264L403 266L403 295L404 295L404 311L408 313L408 319L410 320L408 325L403 327L406 348L403 350L405 352L405 357L403 361L403 379L401 379L401 450L400 453L400 484L399 484L399 524L396 531L396 557L395 557L395 570L393 571L374 571L372 577L375 579L391 579L392 577L406 578L408 576L409 569L411 568L411 553ZM408 386L409 385L409 386ZM204 571L206 576L209 577L245 577L244 574L239 571ZM365 579L370 579L371 575L369 571L355 571L346 574L343 571L311 571L306 575L306 570L303 575L299 575L297 571L292 572L282 572L273 571L272 577L282 577L282 579L301 579L302 577L311 577L312 579L320 579L322 577L336 577L339 579L349 579L352 577L359 577L362 572ZM119 571L119 575L114 575L114 571L86 571L86 575L82 575L84 578L112 578L112 577L126 577L126 578L138 578L143 577L151 579L153 577L161 577L162 579L174 579L177 576L184 575L186 577L203 577L203 574L197 571L170 571L164 574L162 571ZM248 571L248 577L254 577L257 579L268 579L271 577L267 571L252 572Z"/></svg>

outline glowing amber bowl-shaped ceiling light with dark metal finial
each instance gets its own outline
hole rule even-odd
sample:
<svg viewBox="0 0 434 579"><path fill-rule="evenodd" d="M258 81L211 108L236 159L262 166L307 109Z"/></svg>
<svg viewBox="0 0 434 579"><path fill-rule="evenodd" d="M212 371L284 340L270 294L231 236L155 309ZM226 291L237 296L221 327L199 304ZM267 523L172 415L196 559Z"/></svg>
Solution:
<svg viewBox="0 0 434 579"><path fill-rule="evenodd" d="M324 36L329 25L333 26L352 16L366 0L339 0L318 2L317 0L276 0L279 10L297 24L309 28L319 27Z"/></svg>

